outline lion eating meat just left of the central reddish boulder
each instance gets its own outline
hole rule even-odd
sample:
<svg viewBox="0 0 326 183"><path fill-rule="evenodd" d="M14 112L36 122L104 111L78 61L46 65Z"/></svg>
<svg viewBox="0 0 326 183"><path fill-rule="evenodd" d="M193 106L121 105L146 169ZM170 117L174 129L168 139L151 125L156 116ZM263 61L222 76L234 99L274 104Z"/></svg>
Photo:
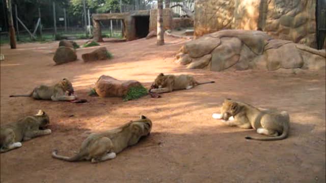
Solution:
<svg viewBox="0 0 326 183"><path fill-rule="evenodd" d="M68 95L66 95L68 92ZM53 86L40 85L34 88L33 92L28 95L11 95L9 97L33 97L38 100L52 100L52 101L73 101L76 96L73 96L74 90L71 82L63 78Z"/></svg>

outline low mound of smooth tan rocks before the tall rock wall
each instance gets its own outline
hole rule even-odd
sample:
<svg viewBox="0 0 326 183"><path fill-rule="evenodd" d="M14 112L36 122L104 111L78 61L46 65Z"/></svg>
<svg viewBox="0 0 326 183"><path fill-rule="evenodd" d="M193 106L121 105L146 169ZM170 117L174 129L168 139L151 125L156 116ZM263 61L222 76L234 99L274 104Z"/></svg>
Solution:
<svg viewBox="0 0 326 183"><path fill-rule="evenodd" d="M186 42L176 55L189 69L324 69L325 50L273 39L261 31L223 30Z"/></svg>

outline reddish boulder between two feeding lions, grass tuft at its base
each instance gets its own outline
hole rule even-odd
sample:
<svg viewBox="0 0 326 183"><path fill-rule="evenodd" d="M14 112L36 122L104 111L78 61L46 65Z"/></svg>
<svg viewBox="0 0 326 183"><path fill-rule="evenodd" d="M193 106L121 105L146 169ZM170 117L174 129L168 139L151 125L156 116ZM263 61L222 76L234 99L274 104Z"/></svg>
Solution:
<svg viewBox="0 0 326 183"><path fill-rule="evenodd" d="M102 75L95 84L95 91L100 97L124 97L130 87L142 85L136 80L118 80Z"/></svg>

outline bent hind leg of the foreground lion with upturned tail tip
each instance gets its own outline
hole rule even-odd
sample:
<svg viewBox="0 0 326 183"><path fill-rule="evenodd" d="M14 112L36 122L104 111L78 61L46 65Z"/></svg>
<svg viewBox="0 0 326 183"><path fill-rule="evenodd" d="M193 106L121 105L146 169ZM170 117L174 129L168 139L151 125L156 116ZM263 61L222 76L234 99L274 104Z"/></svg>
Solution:
<svg viewBox="0 0 326 183"><path fill-rule="evenodd" d="M108 153L112 150L113 143L110 138L101 137L90 146L89 158L92 163L116 158L115 153Z"/></svg>

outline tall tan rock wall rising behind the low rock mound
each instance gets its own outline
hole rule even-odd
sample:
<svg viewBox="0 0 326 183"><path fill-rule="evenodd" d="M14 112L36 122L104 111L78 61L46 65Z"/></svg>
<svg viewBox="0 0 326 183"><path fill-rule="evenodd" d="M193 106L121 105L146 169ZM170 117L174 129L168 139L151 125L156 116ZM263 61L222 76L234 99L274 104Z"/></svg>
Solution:
<svg viewBox="0 0 326 183"><path fill-rule="evenodd" d="M197 0L195 36L221 29L262 31L316 48L316 0Z"/></svg>

